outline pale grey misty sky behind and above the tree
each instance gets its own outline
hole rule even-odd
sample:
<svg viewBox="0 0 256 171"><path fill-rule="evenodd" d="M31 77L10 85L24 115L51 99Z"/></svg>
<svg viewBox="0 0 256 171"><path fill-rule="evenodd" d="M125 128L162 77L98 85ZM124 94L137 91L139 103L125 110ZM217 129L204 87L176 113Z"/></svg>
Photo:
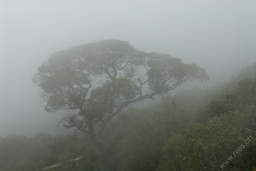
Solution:
<svg viewBox="0 0 256 171"><path fill-rule="evenodd" d="M256 1L1 1L0 136L58 134L31 78L52 53L105 39L167 53L229 81L256 62ZM188 87L186 87L188 88ZM170 92L172 93L172 92Z"/></svg>

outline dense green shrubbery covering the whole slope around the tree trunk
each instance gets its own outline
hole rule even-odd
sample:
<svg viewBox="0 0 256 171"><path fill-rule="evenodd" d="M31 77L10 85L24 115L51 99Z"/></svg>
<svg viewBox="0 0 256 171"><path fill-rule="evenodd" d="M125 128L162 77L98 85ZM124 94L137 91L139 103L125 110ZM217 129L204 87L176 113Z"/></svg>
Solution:
<svg viewBox="0 0 256 171"><path fill-rule="evenodd" d="M244 77L243 73L239 77ZM238 78L234 80L238 82ZM186 90L156 105L159 111L154 114L152 108L125 111L114 118L102 135L112 148L111 163L104 162L86 136L52 137L38 133L32 138L0 138L0 171L35 171L58 162L63 163L49 171L221 170L223 162L249 136L254 139L228 160L225 170L253 170L256 77L245 78L236 85L235 89L217 95ZM68 161L79 156L79 161Z"/></svg>

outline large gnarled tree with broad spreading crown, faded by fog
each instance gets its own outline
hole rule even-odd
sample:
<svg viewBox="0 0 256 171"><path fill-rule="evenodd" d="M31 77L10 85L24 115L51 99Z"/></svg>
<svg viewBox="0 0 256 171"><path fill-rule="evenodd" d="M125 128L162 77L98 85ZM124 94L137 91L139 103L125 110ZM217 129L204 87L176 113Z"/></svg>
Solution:
<svg viewBox="0 0 256 171"><path fill-rule="evenodd" d="M52 54L32 81L42 89L45 110L75 111L62 119L64 127L88 134L107 159L110 153L100 135L114 116L196 79L209 79L196 64L184 64L167 54L144 53L126 41L104 40Z"/></svg>

